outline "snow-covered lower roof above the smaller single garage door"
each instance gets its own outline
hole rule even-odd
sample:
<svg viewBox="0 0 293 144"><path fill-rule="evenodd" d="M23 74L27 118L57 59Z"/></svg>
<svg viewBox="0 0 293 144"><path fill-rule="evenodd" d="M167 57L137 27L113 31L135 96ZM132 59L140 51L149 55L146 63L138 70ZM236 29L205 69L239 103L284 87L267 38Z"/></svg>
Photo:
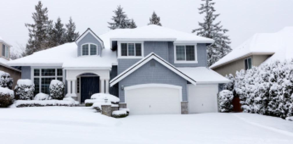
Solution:
<svg viewBox="0 0 293 144"><path fill-rule="evenodd" d="M178 70L194 79L197 84L228 83L230 81L207 67L178 67Z"/></svg>

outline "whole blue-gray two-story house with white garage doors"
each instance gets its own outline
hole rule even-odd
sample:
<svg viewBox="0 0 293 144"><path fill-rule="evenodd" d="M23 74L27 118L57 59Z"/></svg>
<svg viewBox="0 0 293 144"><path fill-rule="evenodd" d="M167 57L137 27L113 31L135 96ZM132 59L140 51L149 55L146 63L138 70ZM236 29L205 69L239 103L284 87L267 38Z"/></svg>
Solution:
<svg viewBox="0 0 293 144"><path fill-rule="evenodd" d="M217 112L219 84L228 79L207 68L212 39L157 25L116 29L97 36L86 30L63 44L9 62L36 93L49 93L52 79L66 96L84 103L94 93L110 93L132 114Z"/></svg>

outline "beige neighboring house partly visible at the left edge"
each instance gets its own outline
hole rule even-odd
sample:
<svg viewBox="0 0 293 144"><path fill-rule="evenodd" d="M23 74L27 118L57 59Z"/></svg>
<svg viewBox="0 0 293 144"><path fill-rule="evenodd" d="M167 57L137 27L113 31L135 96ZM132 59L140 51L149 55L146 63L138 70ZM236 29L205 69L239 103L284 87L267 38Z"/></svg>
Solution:
<svg viewBox="0 0 293 144"><path fill-rule="evenodd" d="M16 85L17 80L21 78L21 71L7 65L8 61L10 60L10 48L11 45L6 43L0 37L0 70L8 72L10 74L10 77L13 78L13 89Z"/></svg>

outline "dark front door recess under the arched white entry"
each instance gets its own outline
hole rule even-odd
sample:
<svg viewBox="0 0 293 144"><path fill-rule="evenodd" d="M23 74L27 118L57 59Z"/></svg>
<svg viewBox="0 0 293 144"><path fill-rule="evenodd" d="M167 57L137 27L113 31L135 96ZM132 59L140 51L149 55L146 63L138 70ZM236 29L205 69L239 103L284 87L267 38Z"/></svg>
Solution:
<svg viewBox="0 0 293 144"><path fill-rule="evenodd" d="M76 92L80 96L80 102L90 99L94 93L100 93L100 76L94 73L80 74L76 78Z"/></svg>

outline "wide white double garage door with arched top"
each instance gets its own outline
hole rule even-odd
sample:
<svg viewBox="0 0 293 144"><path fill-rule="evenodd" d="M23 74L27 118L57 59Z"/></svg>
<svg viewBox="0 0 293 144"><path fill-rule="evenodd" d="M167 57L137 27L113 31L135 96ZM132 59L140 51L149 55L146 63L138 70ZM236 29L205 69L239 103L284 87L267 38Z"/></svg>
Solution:
<svg viewBox="0 0 293 144"><path fill-rule="evenodd" d="M140 84L125 87L130 114L180 114L182 87L167 84Z"/></svg>

